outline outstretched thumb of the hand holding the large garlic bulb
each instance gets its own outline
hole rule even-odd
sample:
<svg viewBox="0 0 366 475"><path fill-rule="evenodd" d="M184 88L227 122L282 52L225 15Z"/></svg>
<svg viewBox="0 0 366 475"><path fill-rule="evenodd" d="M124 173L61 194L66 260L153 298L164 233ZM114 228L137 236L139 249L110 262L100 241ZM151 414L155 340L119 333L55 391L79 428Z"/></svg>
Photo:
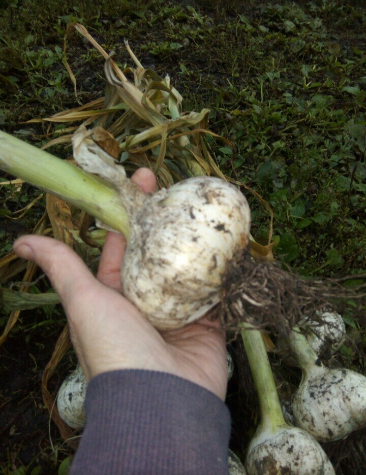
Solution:
<svg viewBox="0 0 366 475"><path fill-rule="evenodd" d="M47 274L64 306L83 290L97 284L82 259L66 244L45 236L26 235L17 239L14 252L32 260Z"/></svg>

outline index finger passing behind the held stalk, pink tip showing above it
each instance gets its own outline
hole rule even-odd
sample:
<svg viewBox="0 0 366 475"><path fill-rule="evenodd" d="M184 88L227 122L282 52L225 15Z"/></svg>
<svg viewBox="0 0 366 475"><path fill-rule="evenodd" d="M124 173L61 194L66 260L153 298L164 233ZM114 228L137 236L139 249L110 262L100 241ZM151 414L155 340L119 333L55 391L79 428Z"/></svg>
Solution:
<svg viewBox="0 0 366 475"><path fill-rule="evenodd" d="M156 178L149 168L139 168L132 175L131 180L145 193L155 190ZM121 290L119 274L125 248L126 241L123 236L112 232L108 233L97 274L100 282L119 291Z"/></svg>

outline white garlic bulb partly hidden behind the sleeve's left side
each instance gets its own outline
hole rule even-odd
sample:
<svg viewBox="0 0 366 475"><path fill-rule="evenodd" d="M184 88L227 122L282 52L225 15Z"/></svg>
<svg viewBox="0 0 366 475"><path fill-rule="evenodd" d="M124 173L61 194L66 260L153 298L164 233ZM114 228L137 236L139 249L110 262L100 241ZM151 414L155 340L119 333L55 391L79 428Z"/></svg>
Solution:
<svg viewBox="0 0 366 475"><path fill-rule="evenodd" d="M61 385L57 394L57 410L60 417L73 429L85 425L85 395L87 382L81 366L77 366Z"/></svg>

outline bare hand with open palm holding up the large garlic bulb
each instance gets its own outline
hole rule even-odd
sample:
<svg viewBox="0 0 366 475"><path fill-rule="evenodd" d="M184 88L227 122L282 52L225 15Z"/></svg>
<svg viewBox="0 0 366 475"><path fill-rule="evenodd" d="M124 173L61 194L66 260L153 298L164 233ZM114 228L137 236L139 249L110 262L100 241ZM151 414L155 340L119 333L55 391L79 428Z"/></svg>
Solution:
<svg viewBox="0 0 366 475"><path fill-rule="evenodd" d="M140 168L132 180L155 190L153 172ZM164 371L192 381L225 399L225 332L201 319L181 330L160 333L121 295L123 236L108 233L97 278L65 244L26 235L14 243L19 257L36 262L61 298L71 340L87 380L115 369Z"/></svg>

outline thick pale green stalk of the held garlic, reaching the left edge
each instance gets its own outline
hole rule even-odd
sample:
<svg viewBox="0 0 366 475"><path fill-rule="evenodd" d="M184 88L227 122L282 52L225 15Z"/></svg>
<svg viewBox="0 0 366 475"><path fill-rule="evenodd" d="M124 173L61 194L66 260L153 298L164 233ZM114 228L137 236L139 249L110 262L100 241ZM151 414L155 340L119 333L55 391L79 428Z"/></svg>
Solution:
<svg viewBox="0 0 366 475"><path fill-rule="evenodd" d="M128 238L126 210L117 191L106 182L1 130L0 168L68 201Z"/></svg>

